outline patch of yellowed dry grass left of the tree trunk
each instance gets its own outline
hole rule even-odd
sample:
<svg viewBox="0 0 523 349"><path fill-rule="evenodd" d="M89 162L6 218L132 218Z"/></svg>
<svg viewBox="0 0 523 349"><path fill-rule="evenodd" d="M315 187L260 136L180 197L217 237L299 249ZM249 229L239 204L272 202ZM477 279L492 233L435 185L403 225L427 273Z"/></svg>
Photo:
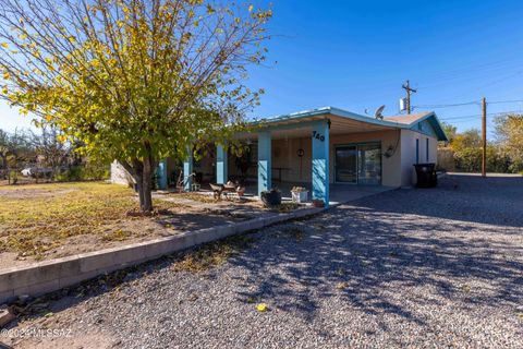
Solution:
<svg viewBox="0 0 523 349"><path fill-rule="evenodd" d="M132 190L104 182L50 183L0 188L0 253L40 256L65 238L95 233L105 241L122 241L129 233L109 231L136 208ZM155 202L168 210L175 204Z"/></svg>

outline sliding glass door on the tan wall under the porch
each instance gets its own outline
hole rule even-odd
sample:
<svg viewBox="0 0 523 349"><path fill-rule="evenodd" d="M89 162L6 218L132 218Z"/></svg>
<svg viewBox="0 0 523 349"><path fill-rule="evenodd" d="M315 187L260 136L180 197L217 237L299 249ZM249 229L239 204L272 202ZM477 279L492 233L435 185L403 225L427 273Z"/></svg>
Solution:
<svg viewBox="0 0 523 349"><path fill-rule="evenodd" d="M336 147L336 182L381 184L381 145L362 143Z"/></svg>

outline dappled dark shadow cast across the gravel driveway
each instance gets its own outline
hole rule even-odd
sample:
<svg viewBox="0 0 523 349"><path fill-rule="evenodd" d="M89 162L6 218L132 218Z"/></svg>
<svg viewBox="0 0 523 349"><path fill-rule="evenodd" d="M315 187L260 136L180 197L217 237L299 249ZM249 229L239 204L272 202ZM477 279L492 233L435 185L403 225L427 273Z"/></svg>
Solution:
<svg viewBox="0 0 523 349"><path fill-rule="evenodd" d="M437 189L387 192L275 227L257 249L231 261L250 275L238 279L238 298L271 300L305 321L331 297L418 324L425 318L413 309L448 300L455 311L516 306L523 301L522 184L520 178L449 177ZM284 238L284 229L300 229L303 238Z"/></svg>

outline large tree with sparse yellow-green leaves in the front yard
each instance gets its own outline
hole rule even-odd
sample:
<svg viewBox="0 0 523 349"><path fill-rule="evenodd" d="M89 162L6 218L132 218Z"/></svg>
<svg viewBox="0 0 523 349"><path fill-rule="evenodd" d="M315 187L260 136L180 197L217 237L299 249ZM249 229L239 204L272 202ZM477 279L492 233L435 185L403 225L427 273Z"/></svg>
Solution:
<svg viewBox="0 0 523 349"><path fill-rule="evenodd" d="M151 174L191 144L223 144L263 91L270 10L204 0L2 0L1 96L117 159L153 209Z"/></svg>

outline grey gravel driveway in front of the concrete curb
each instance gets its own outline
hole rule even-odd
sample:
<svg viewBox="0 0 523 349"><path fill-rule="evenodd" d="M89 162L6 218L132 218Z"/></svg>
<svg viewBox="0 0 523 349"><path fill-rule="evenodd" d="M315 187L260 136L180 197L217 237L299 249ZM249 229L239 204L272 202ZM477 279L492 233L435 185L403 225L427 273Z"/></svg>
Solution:
<svg viewBox="0 0 523 349"><path fill-rule="evenodd" d="M203 273L166 260L64 297L19 328L72 337L17 345L523 348L522 227L523 178L447 177L262 230Z"/></svg>

